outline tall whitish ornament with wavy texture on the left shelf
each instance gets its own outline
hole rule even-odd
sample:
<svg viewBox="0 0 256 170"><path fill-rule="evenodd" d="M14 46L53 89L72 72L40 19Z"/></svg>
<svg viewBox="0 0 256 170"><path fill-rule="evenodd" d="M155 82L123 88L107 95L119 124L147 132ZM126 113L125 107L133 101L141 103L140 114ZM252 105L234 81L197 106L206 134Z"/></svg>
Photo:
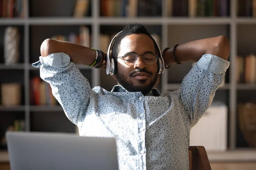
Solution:
<svg viewBox="0 0 256 170"><path fill-rule="evenodd" d="M7 27L4 35L4 62L6 65L17 63L19 53L20 33L17 27Z"/></svg>

